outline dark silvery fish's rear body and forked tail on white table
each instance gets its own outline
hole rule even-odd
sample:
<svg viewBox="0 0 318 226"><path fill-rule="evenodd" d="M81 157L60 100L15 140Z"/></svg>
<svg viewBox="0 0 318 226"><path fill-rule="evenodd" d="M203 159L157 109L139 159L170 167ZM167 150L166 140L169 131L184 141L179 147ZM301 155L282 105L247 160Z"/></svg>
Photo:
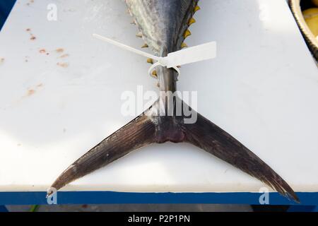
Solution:
<svg viewBox="0 0 318 226"><path fill-rule="evenodd" d="M182 48L184 33L191 24L189 21L199 8L198 0L125 1L141 37L159 57L165 57L168 53ZM158 66L156 72L160 91L174 93L177 90L177 72L163 66ZM153 109L160 108L158 107L160 101L164 100L165 110L170 112L173 109L169 107L175 108L176 102L181 101L177 100L177 97L161 95L164 92L160 92L159 100L141 116L136 117L76 160L51 187L59 190L73 180L151 143L184 142L206 150L252 177L256 177L283 196L297 203L300 202L293 189L269 165L266 165L240 141L200 114L195 124L184 124L184 119L187 118L184 112L181 116L154 115ZM170 101L173 102L172 106L167 105ZM191 109L184 102L182 105Z"/></svg>

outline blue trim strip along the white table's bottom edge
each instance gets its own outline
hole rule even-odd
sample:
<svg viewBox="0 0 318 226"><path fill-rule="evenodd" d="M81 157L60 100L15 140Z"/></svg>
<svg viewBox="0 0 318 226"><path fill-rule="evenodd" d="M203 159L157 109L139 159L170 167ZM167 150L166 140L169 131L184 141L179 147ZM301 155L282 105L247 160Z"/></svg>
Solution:
<svg viewBox="0 0 318 226"><path fill-rule="evenodd" d="M0 192L0 205L45 205L45 192ZM64 191L57 194L58 204L111 203L217 203L259 205L259 193L124 193L113 191ZM301 205L317 206L318 192L298 193ZM269 196L271 205L295 205L277 194Z"/></svg>

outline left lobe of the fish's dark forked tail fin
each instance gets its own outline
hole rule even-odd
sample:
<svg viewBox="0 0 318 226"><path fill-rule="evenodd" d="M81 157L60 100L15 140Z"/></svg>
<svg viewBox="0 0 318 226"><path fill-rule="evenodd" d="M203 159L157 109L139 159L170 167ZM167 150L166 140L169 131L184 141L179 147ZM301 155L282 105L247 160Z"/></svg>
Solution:
<svg viewBox="0 0 318 226"><path fill-rule="evenodd" d="M150 111L151 109L148 109ZM147 113L147 112L146 112ZM141 114L118 131L112 133L104 141L80 157L67 168L52 184L51 188L61 189L66 184L100 169L105 165L118 160L131 151L153 143L155 138L155 125L151 117ZM53 193L50 189L49 195Z"/></svg>

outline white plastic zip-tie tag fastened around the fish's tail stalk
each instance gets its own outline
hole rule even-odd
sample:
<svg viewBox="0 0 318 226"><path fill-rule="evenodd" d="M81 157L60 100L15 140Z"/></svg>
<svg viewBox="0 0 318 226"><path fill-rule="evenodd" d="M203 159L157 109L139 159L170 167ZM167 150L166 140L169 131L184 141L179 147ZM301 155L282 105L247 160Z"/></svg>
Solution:
<svg viewBox="0 0 318 226"><path fill-rule="evenodd" d="M147 52L143 52L139 49L129 47L126 44L122 44L107 37L103 37L102 35L93 34L93 37L96 37L99 40L108 42L110 44L114 44L117 47L121 47L122 49L126 49L130 52L139 54L143 57L154 59L158 61L157 66L160 64L161 66L167 66L168 69L176 68L177 66L182 66L184 64L191 64L216 58L216 42L208 42L206 44L200 44L195 47L189 47L177 52L172 52L168 54L167 57L157 57L153 54L148 54Z"/></svg>

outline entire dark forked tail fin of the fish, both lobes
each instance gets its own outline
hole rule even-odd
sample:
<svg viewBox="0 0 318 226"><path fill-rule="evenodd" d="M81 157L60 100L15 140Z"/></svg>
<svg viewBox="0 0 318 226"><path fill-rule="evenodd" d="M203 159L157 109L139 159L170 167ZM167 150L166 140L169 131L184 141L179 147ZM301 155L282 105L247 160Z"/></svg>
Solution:
<svg viewBox="0 0 318 226"><path fill-rule="evenodd" d="M66 184L118 160L133 150L151 143L171 141L192 143L252 177L256 177L283 196L299 202L293 189L269 165L266 165L229 133L192 109L192 114L197 114L197 120L194 124L185 124L183 116L154 116L153 109L158 108L158 103L155 102L153 107L144 114L129 122L76 160L57 178L51 187L59 190ZM183 102L182 106L190 109Z"/></svg>

